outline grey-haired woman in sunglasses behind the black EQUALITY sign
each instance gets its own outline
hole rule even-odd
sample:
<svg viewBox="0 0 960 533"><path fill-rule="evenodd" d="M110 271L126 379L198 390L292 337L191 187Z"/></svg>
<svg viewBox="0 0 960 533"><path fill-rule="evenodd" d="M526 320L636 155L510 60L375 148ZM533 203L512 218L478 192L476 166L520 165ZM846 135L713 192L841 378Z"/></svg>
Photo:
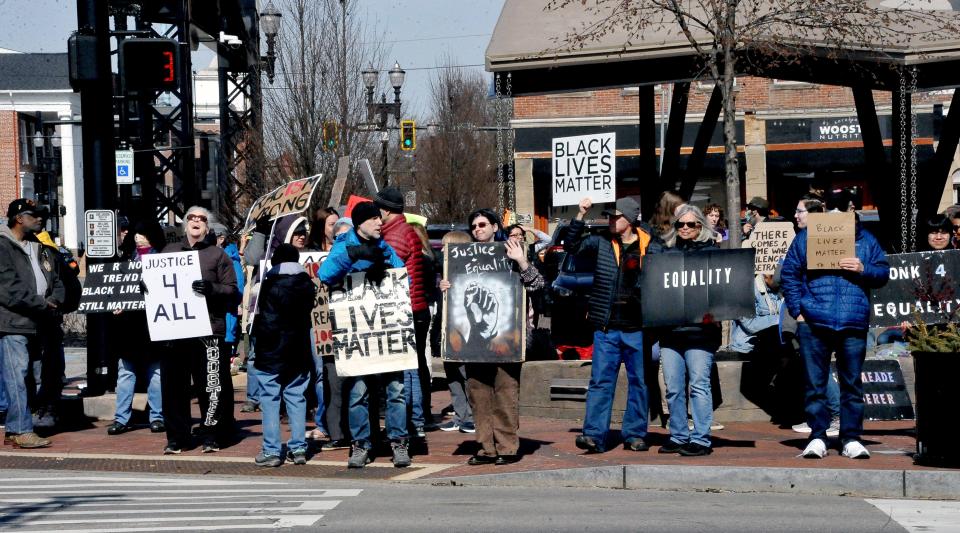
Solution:
<svg viewBox="0 0 960 533"><path fill-rule="evenodd" d="M695 206L683 205L671 220L664 235L663 252L689 254L716 248L716 232ZM649 253L656 253L651 248ZM720 324L690 324L668 328L660 336L660 361L667 386L670 407L670 440L659 453L685 456L708 455L710 424L713 422L713 395L710 390L710 365L720 346ZM690 411L693 431L687 426L687 381L690 383Z"/></svg>

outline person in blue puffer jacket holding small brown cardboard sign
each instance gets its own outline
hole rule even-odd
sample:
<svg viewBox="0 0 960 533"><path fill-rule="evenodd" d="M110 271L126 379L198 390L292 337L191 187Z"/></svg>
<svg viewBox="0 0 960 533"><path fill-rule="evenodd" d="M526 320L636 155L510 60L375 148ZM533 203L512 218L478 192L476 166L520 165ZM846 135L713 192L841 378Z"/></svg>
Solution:
<svg viewBox="0 0 960 533"><path fill-rule="evenodd" d="M828 201L828 207L837 201ZM844 202L839 202L843 204ZM848 202L847 202L848 203ZM835 209L834 211L839 211ZM890 265L877 240L855 224L856 255L843 257L835 270L807 266L808 227L801 229L783 262L781 287L790 315L801 317L797 328L805 370L805 410L810 441L801 454L820 459L827 454L827 380L830 354L836 353L840 382L840 442L845 457L867 459L870 452L860 442L863 432L863 383L860 371L866 358L870 319L869 290L886 283Z"/></svg>

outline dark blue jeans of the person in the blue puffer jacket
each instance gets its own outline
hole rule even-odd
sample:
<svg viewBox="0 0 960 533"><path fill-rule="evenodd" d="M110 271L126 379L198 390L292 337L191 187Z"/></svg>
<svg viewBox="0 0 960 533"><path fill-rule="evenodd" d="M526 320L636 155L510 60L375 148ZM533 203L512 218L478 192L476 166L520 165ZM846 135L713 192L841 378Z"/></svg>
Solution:
<svg viewBox="0 0 960 533"><path fill-rule="evenodd" d="M867 332L817 326L797 328L800 358L806 373L804 405L810 439L827 438L830 409L827 382L830 379L830 354L836 353L837 380L840 388L840 441L860 440L863 433L863 381L860 371L867 356Z"/></svg>

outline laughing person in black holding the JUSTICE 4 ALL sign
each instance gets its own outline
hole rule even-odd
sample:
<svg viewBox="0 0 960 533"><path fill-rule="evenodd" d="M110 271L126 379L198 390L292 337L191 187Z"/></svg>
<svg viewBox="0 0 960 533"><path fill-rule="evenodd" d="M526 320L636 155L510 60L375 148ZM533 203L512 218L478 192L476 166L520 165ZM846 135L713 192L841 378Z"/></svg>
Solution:
<svg viewBox="0 0 960 533"><path fill-rule="evenodd" d="M217 247L210 233L213 215L203 207L187 209L183 220L184 240L168 244L163 253L196 251L201 278L191 287L207 301L213 335L173 341L161 362L161 390L167 425L164 454L178 454L190 442L190 377L200 404L200 435L204 453L219 451L234 438L233 381L230 351L226 348L226 315L240 301L233 263ZM209 237L209 238L208 238Z"/></svg>

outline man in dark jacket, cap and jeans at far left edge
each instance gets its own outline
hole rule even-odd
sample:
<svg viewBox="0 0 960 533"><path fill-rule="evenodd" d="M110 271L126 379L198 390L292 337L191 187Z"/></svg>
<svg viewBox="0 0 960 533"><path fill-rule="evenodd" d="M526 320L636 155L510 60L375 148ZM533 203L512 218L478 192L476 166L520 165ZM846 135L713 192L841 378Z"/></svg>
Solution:
<svg viewBox="0 0 960 533"><path fill-rule="evenodd" d="M41 260L40 244L30 240L45 216L33 200L20 198L10 203L7 225L0 227L0 368L9 401L3 441L17 448L50 446L33 432L26 386L37 324L64 300L54 265Z"/></svg>

